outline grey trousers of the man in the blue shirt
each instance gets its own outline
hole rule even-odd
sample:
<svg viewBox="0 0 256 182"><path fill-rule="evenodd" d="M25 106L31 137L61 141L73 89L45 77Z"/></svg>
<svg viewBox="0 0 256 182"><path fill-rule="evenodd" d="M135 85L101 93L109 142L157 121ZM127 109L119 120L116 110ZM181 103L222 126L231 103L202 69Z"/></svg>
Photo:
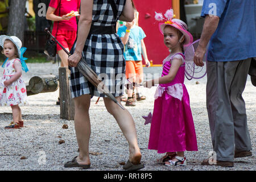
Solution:
<svg viewBox="0 0 256 182"><path fill-rule="evenodd" d="M207 111L217 160L233 161L234 150L251 150L242 98L250 61L207 61Z"/></svg>

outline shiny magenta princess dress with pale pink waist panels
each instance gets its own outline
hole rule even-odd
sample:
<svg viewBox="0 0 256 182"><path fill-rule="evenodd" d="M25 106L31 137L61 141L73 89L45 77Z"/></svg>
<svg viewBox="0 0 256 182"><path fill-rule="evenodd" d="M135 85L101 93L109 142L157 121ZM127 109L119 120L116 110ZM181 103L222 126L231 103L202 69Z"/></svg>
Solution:
<svg viewBox="0 0 256 182"><path fill-rule="evenodd" d="M170 83L159 84L155 92L154 111L148 149L158 153L197 151L197 140L189 95L184 85L185 63L181 54L163 60L162 76L168 75L174 57L182 59L177 74Z"/></svg>

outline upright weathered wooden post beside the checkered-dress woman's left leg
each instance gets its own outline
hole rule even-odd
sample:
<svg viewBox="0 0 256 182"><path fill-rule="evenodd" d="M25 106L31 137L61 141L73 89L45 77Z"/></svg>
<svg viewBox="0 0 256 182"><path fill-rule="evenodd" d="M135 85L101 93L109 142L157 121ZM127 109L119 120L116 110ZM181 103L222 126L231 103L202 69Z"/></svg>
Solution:
<svg viewBox="0 0 256 182"><path fill-rule="evenodd" d="M75 109L69 88L69 70L65 67L59 68L60 82L60 118L74 120Z"/></svg>

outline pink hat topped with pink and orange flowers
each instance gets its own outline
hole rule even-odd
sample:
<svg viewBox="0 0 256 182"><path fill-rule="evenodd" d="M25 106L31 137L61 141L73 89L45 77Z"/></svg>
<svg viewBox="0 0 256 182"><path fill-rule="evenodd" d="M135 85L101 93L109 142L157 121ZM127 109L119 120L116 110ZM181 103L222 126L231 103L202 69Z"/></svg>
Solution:
<svg viewBox="0 0 256 182"><path fill-rule="evenodd" d="M174 10L170 9L166 11L166 14L164 14L166 18L163 18L162 13L156 13L155 12L155 19L156 20L163 20L165 19L166 22L164 23L159 23L159 30L161 34L163 34L164 27L166 26L172 26L177 28L177 30L181 31L181 33L185 36L185 41L183 43L183 46L189 46L193 42L193 36L191 33L188 32L188 26L185 24L182 20L180 19L174 19Z"/></svg>

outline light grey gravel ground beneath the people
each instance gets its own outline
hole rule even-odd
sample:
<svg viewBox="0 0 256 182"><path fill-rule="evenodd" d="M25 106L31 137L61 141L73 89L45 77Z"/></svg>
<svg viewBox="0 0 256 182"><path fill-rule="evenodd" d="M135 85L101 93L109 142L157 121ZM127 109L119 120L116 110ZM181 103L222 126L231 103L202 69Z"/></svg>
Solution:
<svg viewBox="0 0 256 182"><path fill-rule="evenodd" d="M30 71L23 73L23 78L28 82L34 75L57 75L57 64L28 64ZM1 70L1 74L2 74ZM144 73L160 73L160 67L144 68ZM238 158L234 160L233 168L201 166L203 159L208 157L212 151L208 115L206 109L205 86L206 77L200 80L185 80L191 101L191 109L195 122L197 144L199 151L186 152L187 166L165 167L156 164L156 159L163 154L148 150L147 143L150 132L150 124L144 125L142 115L152 112L154 106L155 87L151 89L142 88L147 100L137 102L135 107L126 107L133 115L137 128L139 147L142 152L142 163L144 170L252 170L255 167L255 150L253 156ZM196 84L199 81L199 84ZM247 119L250 131L251 143L255 148L255 121L256 121L256 88L251 84L248 77L243 98L246 102ZM64 168L63 164L78 155L77 141L74 122L60 119L60 107L55 105L59 90L51 93L40 93L29 96L28 106L22 106L24 128L18 130L5 130L12 119L11 107L0 107L0 170L81 170L79 168ZM89 170L122 170L121 162L126 162L129 156L128 144L123 137L115 119L104 106L102 98L96 105L96 97L92 98L90 106L90 119L92 134L90 138L90 160ZM63 129L67 124L68 129ZM60 140L65 143L59 144Z"/></svg>

